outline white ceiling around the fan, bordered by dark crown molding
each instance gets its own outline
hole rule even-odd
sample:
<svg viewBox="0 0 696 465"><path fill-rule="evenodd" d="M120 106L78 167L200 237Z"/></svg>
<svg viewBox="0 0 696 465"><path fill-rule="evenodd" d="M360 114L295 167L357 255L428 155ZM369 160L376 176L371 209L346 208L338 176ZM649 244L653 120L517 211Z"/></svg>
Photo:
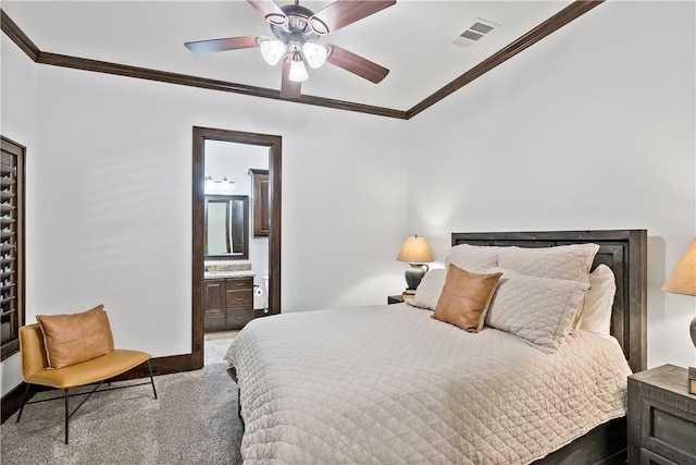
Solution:
<svg viewBox="0 0 696 465"><path fill-rule="evenodd" d="M330 3L300 1L314 12ZM382 83L325 64L309 70L302 94L408 110L570 3L398 0L320 40L389 69ZM272 36L244 0L2 0L1 8L45 52L279 89L279 64L266 64L257 48L195 54L184 47L194 40ZM470 48L452 45L477 17L500 27Z"/></svg>

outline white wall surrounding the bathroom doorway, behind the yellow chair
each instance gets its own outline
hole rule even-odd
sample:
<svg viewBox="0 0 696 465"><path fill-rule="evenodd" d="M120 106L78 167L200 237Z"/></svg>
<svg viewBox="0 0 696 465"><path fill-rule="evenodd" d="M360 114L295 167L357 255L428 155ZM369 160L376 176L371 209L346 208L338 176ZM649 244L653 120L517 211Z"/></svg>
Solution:
<svg viewBox="0 0 696 465"><path fill-rule="evenodd" d="M39 88L50 152L37 229L51 234L37 238L44 266L29 316L104 302L120 344L190 351L192 125L283 136L284 311L386 298L388 281L363 277L397 268L388 247L405 224L402 122L57 68L40 69ZM375 205L375 189L399 195ZM385 213L374 212L380 204ZM358 237L352 260L333 259ZM351 286L360 291L341 299Z"/></svg>

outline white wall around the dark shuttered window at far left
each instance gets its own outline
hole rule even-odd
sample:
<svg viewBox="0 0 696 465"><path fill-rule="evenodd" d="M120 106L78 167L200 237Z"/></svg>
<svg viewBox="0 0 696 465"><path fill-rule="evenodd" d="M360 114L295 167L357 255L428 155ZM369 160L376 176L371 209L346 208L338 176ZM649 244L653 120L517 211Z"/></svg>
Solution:
<svg viewBox="0 0 696 465"><path fill-rule="evenodd" d="M21 51L4 34L0 39L0 134L26 147L26 182L36 179L36 162L40 155L36 122L36 79L34 62ZM26 304L32 305L34 295L29 292L35 283L36 254L32 244L36 241L36 196L26 193ZM0 364L1 394L4 395L22 380L20 354Z"/></svg>

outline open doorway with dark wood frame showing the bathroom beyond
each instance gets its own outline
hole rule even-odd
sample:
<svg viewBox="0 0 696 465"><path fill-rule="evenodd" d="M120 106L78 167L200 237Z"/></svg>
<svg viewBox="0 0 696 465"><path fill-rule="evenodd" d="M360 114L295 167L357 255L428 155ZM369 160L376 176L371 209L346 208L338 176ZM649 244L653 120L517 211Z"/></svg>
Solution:
<svg viewBox="0 0 696 465"><path fill-rule="evenodd" d="M281 311L279 136L194 127L191 366Z"/></svg>

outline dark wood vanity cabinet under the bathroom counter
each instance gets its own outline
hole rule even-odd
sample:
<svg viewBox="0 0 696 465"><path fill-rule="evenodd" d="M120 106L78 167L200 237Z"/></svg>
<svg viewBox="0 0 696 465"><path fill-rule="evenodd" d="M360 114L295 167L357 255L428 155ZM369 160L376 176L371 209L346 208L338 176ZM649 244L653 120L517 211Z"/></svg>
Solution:
<svg viewBox="0 0 696 465"><path fill-rule="evenodd" d="M207 279L203 298L206 332L239 330L253 318L253 278Z"/></svg>

